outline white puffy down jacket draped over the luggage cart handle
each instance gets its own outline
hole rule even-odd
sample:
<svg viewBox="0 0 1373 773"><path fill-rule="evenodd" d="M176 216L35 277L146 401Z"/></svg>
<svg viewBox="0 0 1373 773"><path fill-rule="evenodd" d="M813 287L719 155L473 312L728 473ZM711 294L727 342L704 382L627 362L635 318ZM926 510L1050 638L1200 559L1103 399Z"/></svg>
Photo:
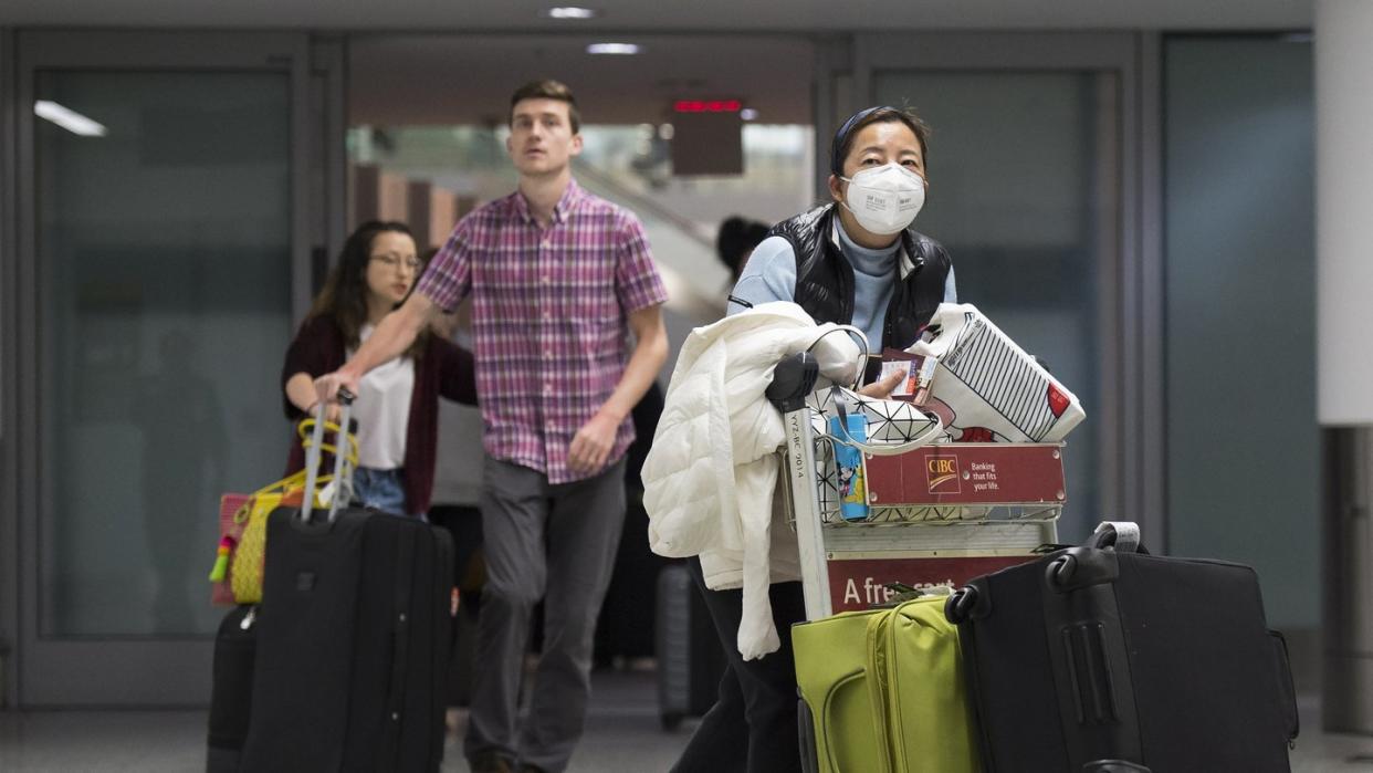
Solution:
<svg viewBox="0 0 1373 773"><path fill-rule="evenodd" d="M817 339L821 373L850 380L858 346L844 334L824 335L835 327L816 325L795 303L774 302L693 330L644 461L649 546L669 557L699 555L714 590L743 588L744 659L780 645L769 582L799 579L796 537L773 512L776 452L785 434L763 391L778 361Z"/></svg>

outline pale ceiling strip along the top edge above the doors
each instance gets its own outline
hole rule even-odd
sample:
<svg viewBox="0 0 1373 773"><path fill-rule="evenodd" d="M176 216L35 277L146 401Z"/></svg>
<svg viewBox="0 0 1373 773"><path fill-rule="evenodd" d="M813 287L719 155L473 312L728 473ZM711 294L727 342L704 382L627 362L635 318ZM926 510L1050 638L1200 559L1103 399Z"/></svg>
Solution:
<svg viewBox="0 0 1373 773"><path fill-rule="evenodd" d="M567 1L567 0L563 0ZM0 25L413 32L832 32L908 29L1307 29L1313 0L4 0Z"/></svg>

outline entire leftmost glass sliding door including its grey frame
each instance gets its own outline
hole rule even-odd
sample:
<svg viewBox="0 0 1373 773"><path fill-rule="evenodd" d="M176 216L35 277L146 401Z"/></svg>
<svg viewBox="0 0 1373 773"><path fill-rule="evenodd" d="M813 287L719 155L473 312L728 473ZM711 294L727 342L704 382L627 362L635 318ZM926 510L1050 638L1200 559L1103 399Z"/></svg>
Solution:
<svg viewBox="0 0 1373 773"><path fill-rule="evenodd" d="M284 464L308 45L195 37L19 37L26 706L203 703L218 496Z"/></svg>

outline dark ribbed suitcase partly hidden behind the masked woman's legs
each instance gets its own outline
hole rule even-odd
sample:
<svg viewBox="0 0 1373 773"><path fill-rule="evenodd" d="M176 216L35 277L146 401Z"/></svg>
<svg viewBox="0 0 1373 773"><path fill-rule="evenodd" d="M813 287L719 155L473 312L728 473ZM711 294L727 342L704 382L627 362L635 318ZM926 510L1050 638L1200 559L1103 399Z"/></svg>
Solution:
<svg viewBox="0 0 1373 773"><path fill-rule="evenodd" d="M681 562L658 573L654 619L658 658L658 714L663 729L700 717L719 697L725 651L706 601Z"/></svg>

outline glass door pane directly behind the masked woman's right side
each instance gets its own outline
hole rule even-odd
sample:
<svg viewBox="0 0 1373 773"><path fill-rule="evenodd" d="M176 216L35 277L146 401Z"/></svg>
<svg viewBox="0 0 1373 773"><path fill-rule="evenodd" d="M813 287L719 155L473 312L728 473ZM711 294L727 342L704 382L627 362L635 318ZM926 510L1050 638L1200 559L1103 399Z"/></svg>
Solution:
<svg viewBox="0 0 1373 773"><path fill-rule="evenodd" d="M958 294L1038 356L1101 419L1096 188L1098 100L1090 71L875 74L876 102L910 102L934 128L920 228L954 257ZM989 119L994 115L1011 121ZM1114 255L1112 255L1114 257ZM1100 512L1098 435L1070 438L1064 533Z"/></svg>

